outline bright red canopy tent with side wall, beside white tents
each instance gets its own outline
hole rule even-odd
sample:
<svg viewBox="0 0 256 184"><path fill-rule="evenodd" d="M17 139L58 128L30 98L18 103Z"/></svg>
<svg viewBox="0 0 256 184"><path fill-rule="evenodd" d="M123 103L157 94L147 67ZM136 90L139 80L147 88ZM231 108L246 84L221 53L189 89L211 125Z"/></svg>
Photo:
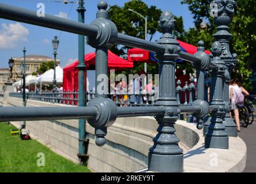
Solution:
<svg viewBox="0 0 256 184"><path fill-rule="evenodd" d="M95 65L95 53L88 53L85 55L86 67ZM77 91L78 90L78 60L69 66L63 68L63 90L65 91ZM133 68L133 62L129 62L121 57L115 55L111 51L108 51L108 68L110 69L122 69ZM86 72L85 72L85 86L86 86Z"/></svg>

